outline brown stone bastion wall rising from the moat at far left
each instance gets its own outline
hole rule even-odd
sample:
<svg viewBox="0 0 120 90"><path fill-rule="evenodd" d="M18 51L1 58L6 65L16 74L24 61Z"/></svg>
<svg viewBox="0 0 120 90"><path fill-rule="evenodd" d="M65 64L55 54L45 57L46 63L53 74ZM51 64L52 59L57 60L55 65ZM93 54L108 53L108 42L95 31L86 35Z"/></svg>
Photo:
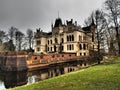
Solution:
<svg viewBox="0 0 120 90"><path fill-rule="evenodd" d="M26 53L1 53L0 69L3 71L23 71L27 70Z"/></svg>

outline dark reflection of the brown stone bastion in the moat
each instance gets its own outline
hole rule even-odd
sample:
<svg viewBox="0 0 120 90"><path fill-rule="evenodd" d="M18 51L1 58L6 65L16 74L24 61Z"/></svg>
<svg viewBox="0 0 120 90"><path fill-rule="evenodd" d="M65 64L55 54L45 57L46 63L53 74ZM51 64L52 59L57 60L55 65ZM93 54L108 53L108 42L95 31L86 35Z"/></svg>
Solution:
<svg viewBox="0 0 120 90"><path fill-rule="evenodd" d="M27 72L2 72L1 80L4 81L5 88L13 88L27 84ZM1 83L0 83L1 85Z"/></svg>

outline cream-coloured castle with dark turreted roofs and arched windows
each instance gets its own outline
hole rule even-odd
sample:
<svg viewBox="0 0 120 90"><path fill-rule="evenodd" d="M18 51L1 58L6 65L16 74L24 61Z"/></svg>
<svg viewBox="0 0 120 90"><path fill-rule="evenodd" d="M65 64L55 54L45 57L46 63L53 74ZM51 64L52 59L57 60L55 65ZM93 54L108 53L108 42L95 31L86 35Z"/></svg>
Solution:
<svg viewBox="0 0 120 90"><path fill-rule="evenodd" d="M77 56L89 56L97 50L96 25L92 23L81 28L73 19L62 23L61 18L51 25L51 32L36 29L35 53L75 53Z"/></svg>

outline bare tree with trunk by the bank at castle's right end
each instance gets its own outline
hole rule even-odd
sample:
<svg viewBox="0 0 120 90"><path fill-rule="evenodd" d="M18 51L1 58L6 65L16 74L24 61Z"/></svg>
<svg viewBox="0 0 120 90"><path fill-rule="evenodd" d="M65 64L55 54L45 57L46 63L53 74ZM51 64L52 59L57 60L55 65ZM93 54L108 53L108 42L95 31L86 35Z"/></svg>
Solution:
<svg viewBox="0 0 120 90"><path fill-rule="evenodd" d="M105 22L104 22L104 15L102 10L95 10L94 12L91 13L90 17L88 18L87 24L95 23L96 26L96 36L95 38L97 39L97 44L98 44L98 64L100 64L100 59L101 59L101 50L103 50L104 47L104 39L106 36L105 33Z"/></svg>

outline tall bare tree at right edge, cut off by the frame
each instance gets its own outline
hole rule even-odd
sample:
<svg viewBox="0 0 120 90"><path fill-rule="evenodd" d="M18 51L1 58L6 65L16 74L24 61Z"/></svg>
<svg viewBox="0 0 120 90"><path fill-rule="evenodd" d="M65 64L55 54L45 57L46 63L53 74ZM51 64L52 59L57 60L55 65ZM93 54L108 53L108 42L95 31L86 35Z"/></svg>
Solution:
<svg viewBox="0 0 120 90"><path fill-rule="evenodd" d="M107 15L115 27L118 54L120 55L120 0L107 0L104 5L105 9L108 11Z"/></svg>

